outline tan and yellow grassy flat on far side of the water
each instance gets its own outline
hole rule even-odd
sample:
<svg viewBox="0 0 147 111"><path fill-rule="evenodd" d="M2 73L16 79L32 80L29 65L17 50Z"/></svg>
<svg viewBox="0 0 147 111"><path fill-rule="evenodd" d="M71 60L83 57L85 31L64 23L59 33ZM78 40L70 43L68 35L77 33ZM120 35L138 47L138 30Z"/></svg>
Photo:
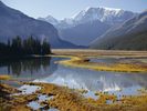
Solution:
<svg viewBox="0 0 147 111"><path fill-rule="evenodd" d="M60 50L54 51L54 53L63 54ZM147 72L147 52L146 51L96 51L96 50L69 50L65 52L70 60L59 61L59 63L86 68L98 71L116 71L116 72ZM92 58L104 58L104 59L123 59L117 62L106 63L106 62L91 62ZM144 59L145 58L145 59Z"/></svg>

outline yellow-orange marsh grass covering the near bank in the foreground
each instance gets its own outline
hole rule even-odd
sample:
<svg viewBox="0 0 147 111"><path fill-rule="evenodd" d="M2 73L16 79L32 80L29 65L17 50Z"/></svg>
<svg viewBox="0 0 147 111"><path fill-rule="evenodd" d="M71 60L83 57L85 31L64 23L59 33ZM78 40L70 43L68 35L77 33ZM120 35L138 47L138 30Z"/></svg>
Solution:
<svg viewBox="0 0 147 111"><path fill-rule="evenodd" d="M53 99L44 101L43 103L57 108L60 111L147 111L147 94L124 97L117 101L116 95L97 92L99 98L97 100L91 98L83 98L76 91L65 87L59 87L51 83L24 83L30 85L39 85L41 90L33 94L12 95L10 100L0 101L1 107L6 105L9 109L3 111L32 111L27 107L28 102L38 100L39 94L54 95ZM14 88L3 87L3 91L10 92ZM111 100L113 103L106 104ZM41 103L43 105L43 103ZM9 104L9 105L8 105Z"/></svg>

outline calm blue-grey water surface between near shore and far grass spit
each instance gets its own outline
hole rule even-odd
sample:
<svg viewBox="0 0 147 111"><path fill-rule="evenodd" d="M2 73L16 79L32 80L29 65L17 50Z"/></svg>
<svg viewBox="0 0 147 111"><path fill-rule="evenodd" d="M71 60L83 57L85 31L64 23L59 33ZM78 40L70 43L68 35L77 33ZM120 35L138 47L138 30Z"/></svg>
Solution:
<svg viewBox="0 0 147 111"><path fill-rule="evenodd" d="M90 91L87 97L93 94L91 91L129 95L136 94L137 89L147 88L147 74L102 72L54 63L60 60L63 58L0 61L0 74L9 74L24 81L41 81L73 89L86 89Z"/></svg>

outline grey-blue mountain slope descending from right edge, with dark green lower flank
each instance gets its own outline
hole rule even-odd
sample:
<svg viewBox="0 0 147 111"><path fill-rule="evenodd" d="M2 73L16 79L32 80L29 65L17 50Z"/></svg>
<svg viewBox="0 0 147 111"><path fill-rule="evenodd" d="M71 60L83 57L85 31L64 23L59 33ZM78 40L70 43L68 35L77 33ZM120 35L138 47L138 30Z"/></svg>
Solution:
<svg viewBox="0 0 147 111"><path fill-rule="evenodd" d="M147 50L147 10L97 38L91 48Z"/></svg>

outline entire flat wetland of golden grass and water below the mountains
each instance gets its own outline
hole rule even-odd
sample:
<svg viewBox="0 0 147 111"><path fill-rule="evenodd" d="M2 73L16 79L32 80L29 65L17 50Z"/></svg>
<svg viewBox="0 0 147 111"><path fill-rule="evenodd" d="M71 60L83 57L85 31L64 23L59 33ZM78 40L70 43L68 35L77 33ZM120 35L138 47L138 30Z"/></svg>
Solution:
<svg viewBox="0 0 147 111"><path fill-rule="evenodd" d="M0 111L147 110L146 51L52 52L52 59L38 60L34 68L25 67L33 60L21 61L19 71L12 69L19 61L1 63L10 71L0 69Z"/></svg>

